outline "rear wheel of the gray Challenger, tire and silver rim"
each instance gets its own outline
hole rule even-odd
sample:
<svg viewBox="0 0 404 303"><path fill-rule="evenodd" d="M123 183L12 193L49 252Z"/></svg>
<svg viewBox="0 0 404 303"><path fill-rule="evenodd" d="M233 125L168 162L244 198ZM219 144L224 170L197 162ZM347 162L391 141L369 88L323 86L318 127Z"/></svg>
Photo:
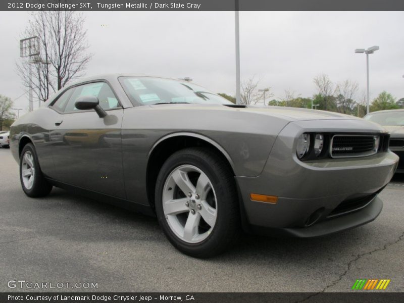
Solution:
<svg viewBox="0 0 404 303"><path fill-rule="evenodd" d="M22 189L29 197L43 197L52 190L52 185L43 177L32 143L26 144L21 151L20 181Z"/></svg>

